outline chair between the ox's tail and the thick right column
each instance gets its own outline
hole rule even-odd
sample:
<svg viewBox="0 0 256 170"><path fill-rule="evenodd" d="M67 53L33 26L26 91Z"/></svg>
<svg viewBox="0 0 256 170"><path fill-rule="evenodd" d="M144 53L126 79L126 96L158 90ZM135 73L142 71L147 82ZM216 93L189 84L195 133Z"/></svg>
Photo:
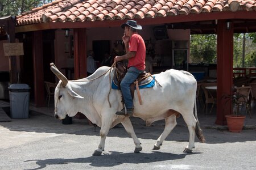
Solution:
<svg viewBox="0 0 256 170"><path fill-rule="evenodd" d="M208 103L212 104L212 108L210 108L210 113L212 113L212 109L214 104L216 104L216 94L217 94L217 90L212 90L212 92L210 92L210 90L207 90L205 87L208 86L217 86L217 83L203 83L201 84L201 88L204 92L204 97L205 97L205 103L204 103L204 108L203 108L203 112L204 109L206 108L206 114L208 114Z"/></svg>

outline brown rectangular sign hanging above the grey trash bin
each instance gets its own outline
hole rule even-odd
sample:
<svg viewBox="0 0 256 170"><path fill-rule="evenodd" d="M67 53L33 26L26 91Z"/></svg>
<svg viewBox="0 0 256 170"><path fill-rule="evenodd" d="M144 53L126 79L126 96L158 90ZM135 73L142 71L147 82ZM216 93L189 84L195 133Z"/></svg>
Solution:
<svg viewBox="0 0 256 170"><path fill-rule="evenodd" d="M24 55L23 43L3 43L3 52L5 53L5 56L22 56Z"/></svg>

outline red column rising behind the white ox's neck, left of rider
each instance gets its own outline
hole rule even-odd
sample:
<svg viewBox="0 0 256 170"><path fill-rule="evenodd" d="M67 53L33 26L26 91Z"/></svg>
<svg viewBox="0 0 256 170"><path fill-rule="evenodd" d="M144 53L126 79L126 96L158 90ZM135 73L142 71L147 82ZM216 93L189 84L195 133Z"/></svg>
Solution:
<svg viewBox="0 0 256 170"><path fill-rule="evenodd" d="M74 29L75 79L87 76L86 58L86 28L76 28Z"/></svg>

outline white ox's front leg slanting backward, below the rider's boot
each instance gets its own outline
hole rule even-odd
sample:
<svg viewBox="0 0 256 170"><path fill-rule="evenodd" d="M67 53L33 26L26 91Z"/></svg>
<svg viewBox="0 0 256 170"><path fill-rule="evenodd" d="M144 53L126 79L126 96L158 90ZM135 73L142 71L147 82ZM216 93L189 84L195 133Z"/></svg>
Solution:
<svg viewBox="0 0 256 170"><path fill-rule="evenodd" d="M121 122L123 127L125 127L125 130L131 137L133 138L133 142L135 144L135 150L134 153L139 153L142 150L141 142L139 142L139 139L137 138L133 125L131 124L130 118L125 117L125 119Z"/></svg>

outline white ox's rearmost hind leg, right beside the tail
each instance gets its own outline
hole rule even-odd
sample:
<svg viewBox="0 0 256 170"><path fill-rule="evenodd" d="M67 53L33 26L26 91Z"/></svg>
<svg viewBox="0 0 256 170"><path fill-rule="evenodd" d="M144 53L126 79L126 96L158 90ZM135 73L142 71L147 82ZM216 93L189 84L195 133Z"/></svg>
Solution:
<svg viewBox="0 0 256 170"><path fill-rule="evenodd" d="M188 126L189 131L189 142L188 146L185 147L183 152L190 153L192 149L195 148L195 130L196 130L196 118L193 115L193 112L187 112L189 114L182 114L185 123Z"/></svg>

